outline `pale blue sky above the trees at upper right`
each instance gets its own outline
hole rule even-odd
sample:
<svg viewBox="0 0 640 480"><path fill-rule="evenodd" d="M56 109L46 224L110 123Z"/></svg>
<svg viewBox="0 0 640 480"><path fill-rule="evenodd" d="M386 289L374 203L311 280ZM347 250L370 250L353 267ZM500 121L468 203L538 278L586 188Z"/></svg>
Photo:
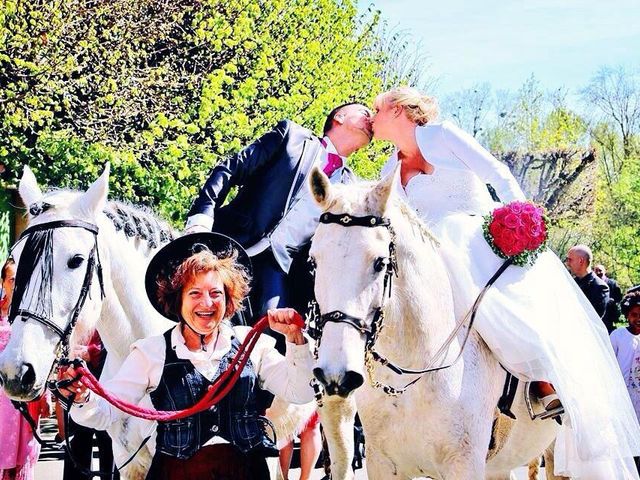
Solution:
<svg viewBox="0 0 640 480"><path fill-rule="evenodd" d="M428 53L438 94L489 82L583 87L603 65L640 67L640 0L372 0ZM360 0L360 8L368 3Z"/></svg>

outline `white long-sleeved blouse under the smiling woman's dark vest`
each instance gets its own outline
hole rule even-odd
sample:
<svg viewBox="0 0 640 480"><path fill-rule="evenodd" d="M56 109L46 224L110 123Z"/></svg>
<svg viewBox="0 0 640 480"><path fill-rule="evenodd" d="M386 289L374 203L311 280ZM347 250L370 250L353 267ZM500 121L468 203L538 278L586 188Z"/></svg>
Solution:
<svg viewBox="0 0 640 480"><path fill-rule="evenodd" d="M243 342L249 330L249 327L232 328L229 324L222 323L219 338L216 341L216 336L213 336L207 345L207 351L192 352L187 348L179 326L176 326L171 332L171 346L178 358L191 361L207 380L212 381L220 360L231 349L233 336ZM131 353L118 373L104 382L104 388L122 400L137 404L158 387L164 369L165 348L163 335L138 340L131 346ZM260 388L269 390L290 403L302 404L313 400L314 392L309 385L313 377L310 341L304 345L287 342L286 354L282 356L275 349L275 339L262 335L249 358L254 365ZM126 414L103 398L91 394L87 403L73 405L71 415L81 425L106 430Z"/></svg>

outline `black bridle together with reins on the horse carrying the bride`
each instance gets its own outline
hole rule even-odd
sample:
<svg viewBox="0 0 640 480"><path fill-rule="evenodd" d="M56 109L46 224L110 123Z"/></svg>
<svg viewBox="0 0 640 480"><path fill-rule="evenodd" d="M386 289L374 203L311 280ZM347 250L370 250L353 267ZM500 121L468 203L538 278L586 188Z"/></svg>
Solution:
<svg viewBox="0 0 640 480"><path fill-rule="evenodd" d="M453 329L451 334L447 337L443 345L438 349L438 351L433 355L432 359L429 361L427 366L423 369L409 369L400 367L393 362L391 362L387 357L379 354L374 350L375 342L380 334L380 331L384 327L384 308L386 304L387 298L391 297L391 280L393 276L398 276L398 262L396 257L396 247L395 240L396 234L391 225L391 220L388 217L381 217L375 215L364 215L364 216L355 216L348 213L334 214L325 212L320 216L320 223L324 224L336 224L343 227L364 227L364 228L375 228L375 227L385 227L389 231L390 240L389 240L389 259L386 262L386 272L383 279L383 290L382 290L382 301L380 305L373 309L373 318L371 321L371 325L367 325L367 318L358 318L352 315L349 315L340 310L335 310L329 313L321 314L319 312L319 306L315 300L311 302L311 313L310 317L315 320L315 329L309 329L310 332L314 334L318 343L320 342L320 337L322 335L322 329L327 324L327 322L335 322L335 323L346 323L347 325L355 328L361 334L365 335L365 363L367 364L367 373L369 375L369 380L371 385L374 388L381 388L386 394L397 396L404 393L407 388L416 383L420 378L422 378L427 373L437 372L439 370L444 370L452 367L458 360L462 357L464 353L464 348L467 344L469 336L471 334L471 327L475 321L475 317L478 311L478 307L480 306L480 302L484 298L486 292L489 288L495 283L495 281L502 275L502 273L507 269L509 265L512 264L512 260L506 260L500 268L494 273L494 275L489 279L484 288L478 294L473 306L469 310L469 312L462 318L460 322L457 323L456 327ZM313 265L313 261L312 261ZM315 265L313 265L315 267ZM449 350L449 347L455 340L460 329L468 322L467 331L465 333L462 344L460 345L460 349L458 351L457 356L453 359L453 361L444 364L434 366L434 364L439 361L439 359L445 355ZM317 347L316 347L317 348ZM443 359L444 360L444 359ZM413 379L411 382L406 384L402 388L395 388L390 385L382 384L373 379L373 361L380 363L381 365L387 367L391 371L395 372L398 375L419 375L417 378ZM318 386L317 383L314 385L316 388L316 393L318 394ZM319 395L316 395L316 398L319 399ZM320 400L319 400L320 402Z"/></svg>

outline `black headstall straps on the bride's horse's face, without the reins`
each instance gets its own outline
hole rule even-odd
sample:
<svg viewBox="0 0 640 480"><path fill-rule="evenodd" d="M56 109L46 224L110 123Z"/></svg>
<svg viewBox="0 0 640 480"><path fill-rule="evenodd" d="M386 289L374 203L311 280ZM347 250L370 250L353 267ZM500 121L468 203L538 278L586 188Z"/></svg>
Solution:
<svg viewBox="0 0 640 480"><path fill-rule="evenodd" d="M386 271L383 279L382 301L380 305L373 309L373 319L370 325L367 325L367 317L360 318L349 315L340 310L320 314L316 302L313 302L315 310L315 337L319 340L324 326L328 322L346 323L355 328L366 337L366 349L371 350L375 344L378 334L384 325L384 306L386 299L391 296L391 283L394 276L398 276L398 262L396 259L395 231L391 226L391 221L387 217L379 217L376 215L355 216L348 213L334 214L325 212L320 216L320 223L337 224L343 227L365 227L376 228L384 227L390 235L389 240L389 258L386 261ZM315 265L314 265L315 267Z"/></svg>

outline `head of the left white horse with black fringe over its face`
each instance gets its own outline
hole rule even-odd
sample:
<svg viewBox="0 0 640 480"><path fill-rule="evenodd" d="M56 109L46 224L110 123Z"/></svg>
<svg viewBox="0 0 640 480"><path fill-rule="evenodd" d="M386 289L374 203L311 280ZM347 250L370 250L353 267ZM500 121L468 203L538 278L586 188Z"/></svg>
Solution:
<svg viewBox="0 0 640 480"><path fill-rule="evenodd" d="M43 195L29 167L24 169L19 191L29 223L12 250L18 269L9 315L11 339L0 355L0 382L16 400L42 393L75 323L82 318L86 332L99 317L97 218L108 183L107 166L84 193Z"/></svg>

